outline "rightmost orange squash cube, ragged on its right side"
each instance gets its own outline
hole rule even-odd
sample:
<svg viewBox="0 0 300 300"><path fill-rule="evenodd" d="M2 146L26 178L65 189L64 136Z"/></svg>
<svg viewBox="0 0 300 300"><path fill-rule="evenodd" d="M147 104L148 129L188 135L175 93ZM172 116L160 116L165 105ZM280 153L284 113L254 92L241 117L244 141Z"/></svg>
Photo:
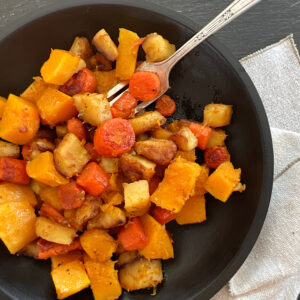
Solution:
<svg viewBox="0 0 300 300"><path fill-rule="evenodd" d="M226 161L208 177L204 188L216 199L226 202L239 184L241 169L234 169L231 162Z"/></svg>

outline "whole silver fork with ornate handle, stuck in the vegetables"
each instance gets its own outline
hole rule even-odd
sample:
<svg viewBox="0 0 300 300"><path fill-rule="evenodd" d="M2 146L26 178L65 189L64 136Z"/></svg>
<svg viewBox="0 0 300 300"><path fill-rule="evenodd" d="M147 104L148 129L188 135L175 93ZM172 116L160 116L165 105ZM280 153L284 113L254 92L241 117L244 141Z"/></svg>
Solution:
<svg viewBox="0 0 300 300"><path fill-rule="evenodd" d="M208 23L203 29L196 33L190 40L182 45L172 56L164 61L158 63L143 62L136 71L150 71L156 73L160 78L161 92L153 100L148 102L141 102L136 108L135 113L138 113L142 109L149 106L156 101L161 95L163 95L169 89L169 75L174 65L192 49L198 46L201 42L207 39L210 35L223 28L239 15L243 14L250 7L257 4L261 0L235 0L229 6L227 6L218 16L216 16L210 23ZM120 90L126 87L126 83L119 83L114 86L107 94L108 98L116 95ZM128 89L126 89L127 91ZM122 93L123 94L123 93ZM110 106L116 102L121 95L116 96L110 101Z"/></svg>

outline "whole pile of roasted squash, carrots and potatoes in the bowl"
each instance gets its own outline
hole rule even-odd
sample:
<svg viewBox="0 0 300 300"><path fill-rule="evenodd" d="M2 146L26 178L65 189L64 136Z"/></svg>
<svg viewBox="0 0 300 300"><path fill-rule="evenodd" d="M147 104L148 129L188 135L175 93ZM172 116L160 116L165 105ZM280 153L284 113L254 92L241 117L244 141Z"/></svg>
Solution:
<svg viewBox="0 0 300 300"><path fill-rule="evenodd" d="M155 73L136 71L139 48L159 62L175 46L123 28L118 41L104 29L92 45L76 37L69 51L51 50L20 96L0 99L0 238L11 254L51 259L58 299L89 286L96 300L156 287L162 260L176 255L165 224L201 223L205 193L226 202L245 189L221 129L232 106L166 125L176 104L163 95L135 115L160 93ZM129 89L111 106L121 81Z"/></svg>

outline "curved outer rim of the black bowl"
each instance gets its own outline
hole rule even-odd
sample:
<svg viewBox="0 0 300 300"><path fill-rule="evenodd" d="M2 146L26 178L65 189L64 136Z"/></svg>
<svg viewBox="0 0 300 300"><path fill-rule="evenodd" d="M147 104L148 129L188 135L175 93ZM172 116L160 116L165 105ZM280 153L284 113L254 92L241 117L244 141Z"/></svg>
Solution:
<svg viewBox="0 0 300 300"><path fill-rule="evenodd" d="M60 10L87 5L116 5L141 8L159 15L167 16L194 32L197 32L201 28L198 23L189 19L188 17L169 8L145 0L64 0L62 2L52 3L38 8L35 11L20 17L14 21L13 24L1 28L0 42L5 40L5 38L9 37L15 31L21 29L26 24L38 18L45 17L48 14L52 14ZM258 207L240 248L237 250L233 258L227 263L226 267L218 274L218 276L204 289L194 294L190 300L200 299L199 297L203 299L209 299L215 295L238 271L243 262L246 260L247 256L250 254L255 242L258 239L266 218L271 199L274 172L273 144L270 126L263 103L254 84L239 61L231 54L226 46L217 40L217 38L211 36L205 42L214 48L223 57L223 59L232 66L235 75L240 79L240 83L243 85L243 88L247 92L249 98L252 99L252 104L256 113L257 123L260 131L260 140L263 153L263 174ZM0 291L5 293L1 287Z"/></svg>

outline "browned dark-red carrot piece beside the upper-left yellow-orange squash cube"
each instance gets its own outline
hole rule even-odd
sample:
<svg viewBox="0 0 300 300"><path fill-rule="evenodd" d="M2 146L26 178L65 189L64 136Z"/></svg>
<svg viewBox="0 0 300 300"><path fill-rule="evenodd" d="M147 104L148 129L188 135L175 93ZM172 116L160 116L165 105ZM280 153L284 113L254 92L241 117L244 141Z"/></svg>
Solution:
<svg viewBox="0 0 300 300"><path fill-rule="evenodd" d="M74 96L76 94L93 93L96 88L97 79L94 73L87 68L83 68L74 74L59 90L69 96Z"/></svg>

